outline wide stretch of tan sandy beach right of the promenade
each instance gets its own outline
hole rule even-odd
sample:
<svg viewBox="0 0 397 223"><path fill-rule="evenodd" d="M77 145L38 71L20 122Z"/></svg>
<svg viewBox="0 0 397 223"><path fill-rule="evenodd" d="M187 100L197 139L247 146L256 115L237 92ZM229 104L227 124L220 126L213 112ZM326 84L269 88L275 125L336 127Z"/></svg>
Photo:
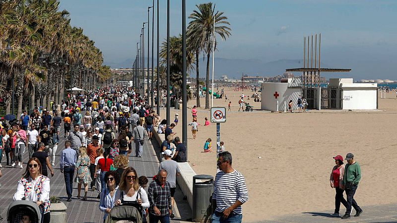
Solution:
<svg viewBox="0 0 397 223"><path fill-rule="evenodd" d="M329 177L332 157L353 153L362 179L355 198L359 205L397 203L397 100L394 91L379 99L381 111L310 111L306 113L238 112L240 92L225 88L232 101L220 137L232 153L233 167L246 179L249 201L243 205L243 222L260 222L277 216L334 209ZM246 96L252 95L244 91ZM259 93L260 94L260 93ZM253 99L246 100L258 106ZM188 123L196 99L188 102ZM227 107L224 99L214 106ZM201 99L201 107L205 98ZM174 132L182 136L182 111ZM209 110L199 109L199 132L194 140L188 126L188 160L197 174L216 173L216 153L202 153L204 142L216 145L216 124L203 126ZM165 118L165 110L160 111ZM216 151L216 147L214 149ZM259 158L261 157L261 158ZM341 207L341 213L345 211Z"/></svg>

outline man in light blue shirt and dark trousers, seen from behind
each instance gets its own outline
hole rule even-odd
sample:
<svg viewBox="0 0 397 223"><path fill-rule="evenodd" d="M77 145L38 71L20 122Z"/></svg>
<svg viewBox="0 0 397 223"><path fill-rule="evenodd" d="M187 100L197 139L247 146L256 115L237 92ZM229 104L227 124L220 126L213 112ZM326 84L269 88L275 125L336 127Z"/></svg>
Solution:
<svg viewBox="0 0 397 223"><path fill-rule="evenodd" d="M71 201L73 189L74 167L76 166L77 154L76 151L70 148L71 142L65 142L65 148L61 154L60 169L64 173L67 201Z"/></svg>

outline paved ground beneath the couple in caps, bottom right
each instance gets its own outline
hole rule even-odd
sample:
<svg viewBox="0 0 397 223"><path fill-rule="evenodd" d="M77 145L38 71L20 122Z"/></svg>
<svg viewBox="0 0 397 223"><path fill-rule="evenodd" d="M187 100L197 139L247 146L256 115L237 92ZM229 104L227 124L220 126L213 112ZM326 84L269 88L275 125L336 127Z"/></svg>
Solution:
<svg viewBox="0 0 397 223"><path fill-rule="evenodd" d="M360 217L354 217L355 211L350 219L332 217L333 210L325 212L307 212L276 218L265 223L397 223L397 204L379 206L361 206L363 213ZM343 213L344 214L344 213Z"/></svg>

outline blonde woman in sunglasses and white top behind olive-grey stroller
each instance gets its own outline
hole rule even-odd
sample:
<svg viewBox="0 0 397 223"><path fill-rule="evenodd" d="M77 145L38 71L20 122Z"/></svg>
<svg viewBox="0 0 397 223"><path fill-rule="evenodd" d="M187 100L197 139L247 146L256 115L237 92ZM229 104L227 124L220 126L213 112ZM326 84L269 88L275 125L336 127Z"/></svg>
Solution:
<svg viewBox="0 0 397 223"><path fill-rule="evenodd" d="M123 194L124 201L136 201L143 209L150 207L146 191L139 186L138 176L134 168L128 167L124 170L120 178L119 191L120 193L116 194L115 206L121 204L121 194Z"/></svg>

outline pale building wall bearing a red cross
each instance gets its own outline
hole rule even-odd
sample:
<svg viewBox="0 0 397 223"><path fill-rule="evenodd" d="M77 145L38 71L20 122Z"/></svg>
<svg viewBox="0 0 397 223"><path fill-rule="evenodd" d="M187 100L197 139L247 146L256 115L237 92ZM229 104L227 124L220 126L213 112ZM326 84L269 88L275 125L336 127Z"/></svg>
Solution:
<svg viewBox="0 0 397 223"><path fill-rule="evenodd" d="M284 111L284 102L287 104L292 100L293 109L297 109L297 101L298 96L302 94L302 87L294 85L291 86L291 83L262 83L262 104L261 109L267 111L276 111L277 109L277 101L279 105L279 111ZM273 96L274 93L278 93L277 99Z"/></svg>

